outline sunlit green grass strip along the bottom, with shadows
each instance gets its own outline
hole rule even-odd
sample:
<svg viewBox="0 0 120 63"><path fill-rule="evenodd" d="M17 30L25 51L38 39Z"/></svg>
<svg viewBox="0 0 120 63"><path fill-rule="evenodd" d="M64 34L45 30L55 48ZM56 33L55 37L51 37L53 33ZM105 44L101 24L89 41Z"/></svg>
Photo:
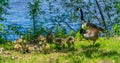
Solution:
<svg viewBox="0 0 120 63"><path fill-rule="evenodd" d="M75 50L62 50L50 54L15 51L0 55L0 63L120 63L120 40L99 38L95 45L92 41L75 42Z"/></svg>

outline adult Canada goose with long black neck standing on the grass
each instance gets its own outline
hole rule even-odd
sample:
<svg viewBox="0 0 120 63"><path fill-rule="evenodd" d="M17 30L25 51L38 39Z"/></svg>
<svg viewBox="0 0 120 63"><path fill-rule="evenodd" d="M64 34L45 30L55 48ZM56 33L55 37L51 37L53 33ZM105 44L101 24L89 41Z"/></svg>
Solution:
<svg viewBox="0 0 120 63"><path fill-rule="evenodd" d="M100 31L104 31L101 27L96 26L93 23L85 22L83 18L83 11L79 9L81 13L81 20L82 20L82 28L80 29L80 34L85 39L92 40L93 44L95 44L96 40L99 38Z"/></svg>

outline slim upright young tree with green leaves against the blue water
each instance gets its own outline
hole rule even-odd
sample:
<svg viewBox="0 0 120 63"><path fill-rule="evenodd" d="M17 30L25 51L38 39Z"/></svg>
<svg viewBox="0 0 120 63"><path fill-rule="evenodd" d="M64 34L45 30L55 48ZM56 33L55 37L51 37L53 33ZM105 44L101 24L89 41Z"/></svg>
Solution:
<svg viewBox="0 0 120 63"><path fill-rule="evenodd" d="M37 19L38 19L38 15L39 15L39 4L40 4L40 0L32 0L32 2L29 2L29 16L31 17L32 20L32 29L33 29L33 33L36 33L37 30Z"/></svg>

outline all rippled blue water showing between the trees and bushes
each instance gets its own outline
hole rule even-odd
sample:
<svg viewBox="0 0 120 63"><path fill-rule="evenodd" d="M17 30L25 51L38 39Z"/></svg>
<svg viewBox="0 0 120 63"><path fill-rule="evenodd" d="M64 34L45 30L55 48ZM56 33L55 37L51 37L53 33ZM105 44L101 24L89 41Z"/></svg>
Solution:
<svg viewBox="0 0 120 63"><path fill-rule="evenodd" d="M6 15L6 19L7 22L3 22L4 24L8 25L8 24L19 24L21 26L24 27L24 29L29 28L30 24L32 24L30 21L30 17L28 14L28 2L30 0L9 0L9 7L10 9L8 10L8 15ZM59 1L58 1L59 2ZM41 3L42 8L43 9L47 9L48 8L48 4L46 2ZM55 5L54 8L58 7L61 8L60 5L58 3L53 4ZM57 5L57 6L56 6ZM62 8L61 8L62 9ZM48 10L45 10L45 12L49 12ZM54 14L54 16L56 16ZM45 15L45 17L49 17L49 15ZM42 20L41 20L42 21ZM74 29L77 29L77 27L79 27L78 23L69 23ZM44 26L51 26L51 22L46 22L46 24ZM63 26L66 26L63 23ZM69 28L68 28L69 30ZM15 38L13 38L15 37ZM11 33L11 35L8 36L8 39L10 40L14 40L16 38L18 38L18 35L14 35Z"/></svg>

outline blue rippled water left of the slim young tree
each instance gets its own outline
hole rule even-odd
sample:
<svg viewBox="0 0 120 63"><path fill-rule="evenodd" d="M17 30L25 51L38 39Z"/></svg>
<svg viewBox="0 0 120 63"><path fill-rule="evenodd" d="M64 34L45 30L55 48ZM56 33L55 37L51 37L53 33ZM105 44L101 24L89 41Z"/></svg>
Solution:
<svg viewBox="0 0 120 63"><path fill-rule="evenodd" d="M9 7L8 9L8 15L6 15L7 21L5 25L20 25L23 26L24 29L29 28L30 19L28 16L28 9L27 9L27 3L29 0L9 0ZM19 36L15 35L11 32L10 35L7 36L8 40L14 40L17 39Z"/></svg>

